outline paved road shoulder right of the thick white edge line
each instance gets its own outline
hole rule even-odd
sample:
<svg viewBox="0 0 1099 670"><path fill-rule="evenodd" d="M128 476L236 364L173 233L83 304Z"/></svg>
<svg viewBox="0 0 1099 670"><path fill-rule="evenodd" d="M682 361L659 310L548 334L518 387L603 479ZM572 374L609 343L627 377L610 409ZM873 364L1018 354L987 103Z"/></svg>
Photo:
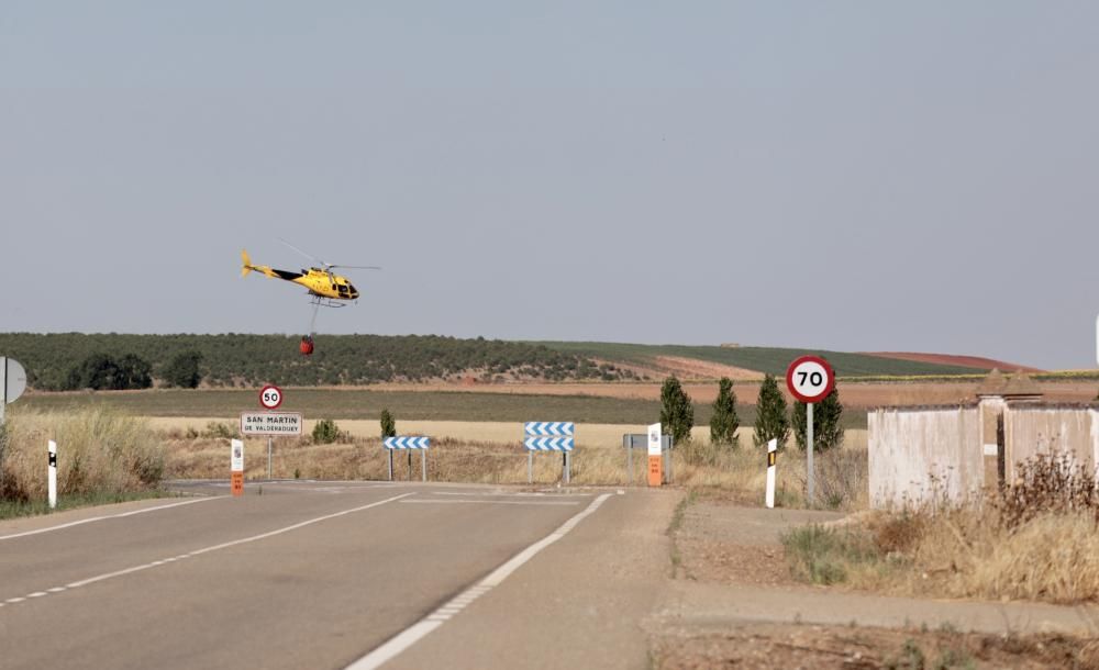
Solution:
<svg viewBox="0 0 1099 670"><path fill-rule="evenodd" d="M613 490L611 491L612 493ZM610 499L387 668L644 668L679 491Z"/></svg>

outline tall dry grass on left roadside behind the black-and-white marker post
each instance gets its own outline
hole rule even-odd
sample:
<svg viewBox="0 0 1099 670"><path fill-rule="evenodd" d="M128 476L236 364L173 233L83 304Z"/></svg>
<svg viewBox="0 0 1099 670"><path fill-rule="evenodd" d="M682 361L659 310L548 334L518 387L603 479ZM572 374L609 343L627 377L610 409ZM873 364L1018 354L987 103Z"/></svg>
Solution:
<svg viewBox="0 0 1099 670"><path fill-rule="evenodd" d="M59 495L115 494L157 488L164 470L159 439L141 418L104 409L76 413L20 412L4 426L0 499L46 496L46 443L57 443Z"/></svg>

